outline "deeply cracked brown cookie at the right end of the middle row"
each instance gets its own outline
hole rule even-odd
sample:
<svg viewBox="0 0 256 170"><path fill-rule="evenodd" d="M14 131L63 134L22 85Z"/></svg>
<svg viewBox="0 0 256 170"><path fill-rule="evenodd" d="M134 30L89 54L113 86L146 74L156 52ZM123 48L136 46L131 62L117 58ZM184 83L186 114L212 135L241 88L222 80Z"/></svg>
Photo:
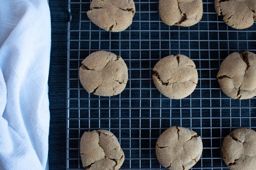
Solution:
<svg viewBox="0 0 256 170"><path fill-rule="evenodd" d="M244 51L232 53L221 63L218 83L221 90L233 99L256 96L256 54Z"/></svg>

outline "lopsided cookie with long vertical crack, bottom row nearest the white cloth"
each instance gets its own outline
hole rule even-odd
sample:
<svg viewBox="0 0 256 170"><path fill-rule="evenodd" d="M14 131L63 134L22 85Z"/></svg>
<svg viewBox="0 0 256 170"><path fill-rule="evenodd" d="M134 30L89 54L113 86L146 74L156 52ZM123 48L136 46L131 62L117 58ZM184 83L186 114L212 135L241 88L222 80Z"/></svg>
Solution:
<svg viewBox="0 0 256 170"><path fill-rule="evenodd" d="M116 136L107 130L84 132L80 155L86 170L118 170L125 160Z"/></svg>

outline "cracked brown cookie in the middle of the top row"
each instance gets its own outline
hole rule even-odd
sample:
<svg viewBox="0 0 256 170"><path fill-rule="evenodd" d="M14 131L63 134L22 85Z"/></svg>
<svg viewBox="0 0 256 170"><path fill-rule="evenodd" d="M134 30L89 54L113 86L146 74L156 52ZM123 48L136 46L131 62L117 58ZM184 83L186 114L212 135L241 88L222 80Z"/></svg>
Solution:
<svg viewBox="0 0 256 170"><path fill-rule="evenodd" d="M159 0L159 14L169 26L193 26L203 15L202 0Z"/></svg>

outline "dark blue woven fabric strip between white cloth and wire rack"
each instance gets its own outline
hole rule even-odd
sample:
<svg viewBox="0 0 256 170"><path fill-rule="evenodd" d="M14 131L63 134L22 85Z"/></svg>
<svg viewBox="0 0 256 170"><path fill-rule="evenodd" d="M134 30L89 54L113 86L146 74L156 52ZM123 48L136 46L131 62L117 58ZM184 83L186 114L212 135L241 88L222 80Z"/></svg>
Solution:
<svg viewBox="0 0 256 170"><path fill-rule="evenodd" d="M66 169L67 0L50 0L52 47L49 70L49 170Z"/></svg>

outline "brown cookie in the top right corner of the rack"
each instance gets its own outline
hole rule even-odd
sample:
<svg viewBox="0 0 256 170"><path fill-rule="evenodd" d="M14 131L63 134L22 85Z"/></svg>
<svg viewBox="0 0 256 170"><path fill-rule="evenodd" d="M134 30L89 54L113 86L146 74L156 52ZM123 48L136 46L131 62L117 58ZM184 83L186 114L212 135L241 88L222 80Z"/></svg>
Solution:
<svg viewBox="0 0 256 170"><path fill-rule="evenodd" d="M245 29L256 20L256 0L215 0L215 10L228 26Z"/></svg>

